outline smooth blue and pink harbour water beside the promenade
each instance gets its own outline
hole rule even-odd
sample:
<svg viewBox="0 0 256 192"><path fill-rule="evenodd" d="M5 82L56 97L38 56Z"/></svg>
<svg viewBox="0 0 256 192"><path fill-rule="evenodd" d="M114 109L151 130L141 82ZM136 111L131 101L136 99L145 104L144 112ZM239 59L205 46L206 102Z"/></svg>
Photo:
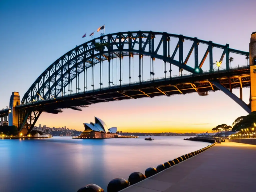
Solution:
<svg viewBox="0 0 256 192"><path fill-rule="evenodd" d="M0 191L76 192L90 183L106 190L113 178L128 180L132 172L209 145L180 136L144 138L0 140Z"/></svg>

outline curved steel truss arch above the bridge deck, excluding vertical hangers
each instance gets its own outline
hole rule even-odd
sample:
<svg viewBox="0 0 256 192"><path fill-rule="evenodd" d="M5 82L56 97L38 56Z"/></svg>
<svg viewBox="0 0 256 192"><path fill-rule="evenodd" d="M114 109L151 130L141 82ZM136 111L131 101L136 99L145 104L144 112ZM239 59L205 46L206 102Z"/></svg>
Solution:
<svg viewBox="0 0 256 192"><path fill-rule="evenodd" d="M160 40L156 41L156 36L159 37ZM168 43L170 38L179 39L171 57ZM184 40L193 41L193 45L190 48L186 59L183 61ZM206 54L201 59L200 63L198 58L199 43L208 45ZM128 45L128 48L125 48L126 44ZM161 45L163 46L162 53L159 51ZM227 56L230 52L241 55L249 55L249 52L230 49L228 44L219 45L211 41L204 41L183 35L168 34L165 32L160 33L153 31L128 31L124 33L119 32L101 36L99 38L92 39L80 46L77 46L52 63L28 89L22 99L21 104L26 104L42 99L49 99L50 97L57 98L62 96L64 94L65 87L69 86L70 84L70 86L72 86L72 80L79 76L80 73L87 72L88 68L93 68L95 64L101 63L104 60L108 60L110 63L111 59L117 57L119 57L121 60L121 57L124 56L129 56L131 58L133 55L145 55L150 56L152 59L161 59L165 63L168 62L170 64L176 65L180 69L187 70L191 73L197 73L196 69L202 67L207 55L210 54L211 72L213 66L213 47L223 49L223 54L220 58L220 61L223 60L225 54ZM178 49L179 61L174 60L174 56ZM195 49L195 68L186 65L193 49ZM226 66L226 69L229 69L229 65ZM92 84L92 86L94 85ZM84 87L84 90L85 89L87 89L87 87Z"/></svg>

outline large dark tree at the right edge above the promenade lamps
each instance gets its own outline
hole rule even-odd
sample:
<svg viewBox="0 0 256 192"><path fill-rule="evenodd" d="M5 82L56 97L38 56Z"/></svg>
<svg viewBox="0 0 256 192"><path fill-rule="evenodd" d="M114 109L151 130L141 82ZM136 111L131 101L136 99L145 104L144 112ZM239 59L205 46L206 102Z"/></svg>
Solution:
<svg viewBox="0 0 256 192"><path fill-rule="evenodd" d="M240 131L241 129L254 127L254 123L256 123L256 111L237 118L233 123L232 131Z"/></svg>

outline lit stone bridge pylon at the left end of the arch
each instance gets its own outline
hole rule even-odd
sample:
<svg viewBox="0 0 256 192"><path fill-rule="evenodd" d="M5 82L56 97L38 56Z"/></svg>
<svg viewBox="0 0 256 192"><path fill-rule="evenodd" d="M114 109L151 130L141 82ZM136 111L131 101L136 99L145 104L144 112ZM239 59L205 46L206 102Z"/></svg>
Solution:
<svg viewBox="0 0 256 192"><path fill-rule="evenodd" d="M20 98L19 98L19 93L18 92L13 92L10 98L10 103L9 107L11 109L11 112L9 113L8 116L8 125L13 126L15 125L18 127L19 123L19 112L15 110L16 105L20 104Z"/></svg>

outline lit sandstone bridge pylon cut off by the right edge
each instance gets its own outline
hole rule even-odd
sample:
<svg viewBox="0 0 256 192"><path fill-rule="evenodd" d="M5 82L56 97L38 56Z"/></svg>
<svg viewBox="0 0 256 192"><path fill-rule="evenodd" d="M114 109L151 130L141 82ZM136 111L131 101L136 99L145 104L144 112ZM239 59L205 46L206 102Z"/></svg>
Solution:
<svg viewBox="0 0 256 192"><path fill-rule="evenodd" d="M250 88L250 104L251 112L256 111L256 32L251 35L251 42L249 44L250 52L250 75L251 75L251 88Z"/></svg>

